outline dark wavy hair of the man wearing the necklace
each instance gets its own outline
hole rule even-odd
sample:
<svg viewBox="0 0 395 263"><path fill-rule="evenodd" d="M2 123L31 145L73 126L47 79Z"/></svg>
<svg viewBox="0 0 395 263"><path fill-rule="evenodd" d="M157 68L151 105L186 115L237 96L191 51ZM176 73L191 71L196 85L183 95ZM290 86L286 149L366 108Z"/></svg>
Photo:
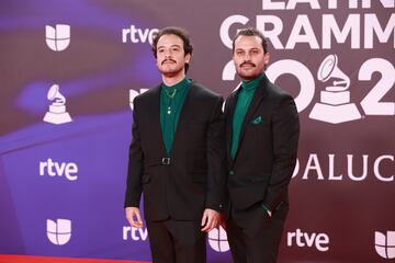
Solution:
<svg viewBox="0 0 395 263"><path fill-rule="evenodd" d="M184 54L190 54L192 55L192 43L191 43L191 38L189 36L189 33L187 30L181 28L181 27L177 27L177 26L169 26L169 27L165 27L161 28L158 33L155 34L154 39L153 39L153 47L151 50L154 53L154 57L157 58L157 45L158 45L158 41L162 35L177 35L178 37L180 37L183 42L183 50ZM189 64L185 64L185 72L188 71L189 68Z"/></svg>

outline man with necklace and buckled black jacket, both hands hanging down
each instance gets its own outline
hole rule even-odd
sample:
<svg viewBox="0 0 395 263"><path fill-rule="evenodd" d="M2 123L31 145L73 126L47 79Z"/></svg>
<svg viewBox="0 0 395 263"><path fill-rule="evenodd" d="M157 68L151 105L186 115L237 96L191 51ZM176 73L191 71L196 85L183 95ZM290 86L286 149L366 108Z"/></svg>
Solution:
<svg viewBox="0 0 395 263"><path fill-rule="evenodd" d="M192 49L184 30L159 31L153 52L162 83L134 100L124 206L142 228L144 193L154 262L205 262L205 236L223 206L223 99L185 77Z"/></svg>

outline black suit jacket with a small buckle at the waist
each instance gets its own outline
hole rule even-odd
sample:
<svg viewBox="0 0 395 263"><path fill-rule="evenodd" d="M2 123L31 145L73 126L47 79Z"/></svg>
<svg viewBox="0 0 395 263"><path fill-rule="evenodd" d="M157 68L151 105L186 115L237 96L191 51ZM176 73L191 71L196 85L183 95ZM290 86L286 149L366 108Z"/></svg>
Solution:
<svg viewBox="0 0 395 263"><path fill-rule="evenodd" d="M222 209L225 193L223 99L192 82L180 113L170 164L160 129L160 85L134 100L125 207L139 206L147 220L201 220Z"/></svg>

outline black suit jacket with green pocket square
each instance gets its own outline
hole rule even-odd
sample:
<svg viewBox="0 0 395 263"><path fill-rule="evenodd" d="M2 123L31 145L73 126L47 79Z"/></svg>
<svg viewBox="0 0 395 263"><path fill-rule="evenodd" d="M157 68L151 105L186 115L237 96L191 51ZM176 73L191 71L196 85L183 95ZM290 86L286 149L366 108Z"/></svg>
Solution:
<svg viewBox="0 0 395 263"><path fill-rule="evenodd" d="M270 210L287 204L287 186L296 162L298 115L290 94L267 77L257 88L246 113L235 159L230 158L232 124L238 90L225 106L228 194L232 206L245 209L257 203Z"/></svg>

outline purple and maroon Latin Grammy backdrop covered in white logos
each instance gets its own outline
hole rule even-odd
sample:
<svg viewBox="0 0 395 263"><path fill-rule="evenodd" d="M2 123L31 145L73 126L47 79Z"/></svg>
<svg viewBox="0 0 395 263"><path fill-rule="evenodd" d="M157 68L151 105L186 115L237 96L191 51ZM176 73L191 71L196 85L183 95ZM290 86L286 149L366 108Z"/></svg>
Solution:
<svg viewBox="0 0 395 263"><path fill-rule="evenodd" d="M2 0L0 253L150 260L123 197L131 102L160 81L149 43L168 25L224 96L237 28L270 38L302 125L280 262L393 262L394 0ZM207 250L230 261L223 229Z"/></svg>

